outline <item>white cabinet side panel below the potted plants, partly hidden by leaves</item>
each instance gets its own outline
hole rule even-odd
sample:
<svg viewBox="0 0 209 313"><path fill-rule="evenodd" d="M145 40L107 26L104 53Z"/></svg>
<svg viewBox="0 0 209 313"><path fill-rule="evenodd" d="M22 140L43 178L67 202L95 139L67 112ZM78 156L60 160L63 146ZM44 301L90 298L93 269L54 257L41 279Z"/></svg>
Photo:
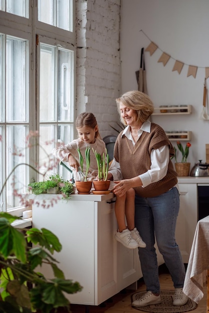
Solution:
<svg viewBox="0 0 209 313"><path fill-rule="evenodd" d="M40 200L41 202L42 200ZM49 204L46 200L45 205ZM33 204L33 227L47 228L60 240L62 250L55 253L66 279L78 281L83 289L67 294L71 303L94 305L95 302L95 230L94 202L59 200L50 208ZM47 266L41 269L52 278Z"/></svg>

